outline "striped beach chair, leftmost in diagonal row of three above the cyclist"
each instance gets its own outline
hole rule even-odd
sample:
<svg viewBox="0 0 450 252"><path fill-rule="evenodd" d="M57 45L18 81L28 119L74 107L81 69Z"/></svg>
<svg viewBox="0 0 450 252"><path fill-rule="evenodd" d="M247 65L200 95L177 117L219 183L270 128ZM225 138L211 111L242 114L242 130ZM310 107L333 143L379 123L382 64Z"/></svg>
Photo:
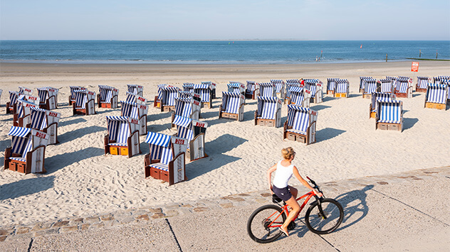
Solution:
<svg viewBox="0 0 450 252"><path fill-rule="evenodd" d="M222 104L219 107L219 119L244 120L244 94L222 92Z"/></svg>

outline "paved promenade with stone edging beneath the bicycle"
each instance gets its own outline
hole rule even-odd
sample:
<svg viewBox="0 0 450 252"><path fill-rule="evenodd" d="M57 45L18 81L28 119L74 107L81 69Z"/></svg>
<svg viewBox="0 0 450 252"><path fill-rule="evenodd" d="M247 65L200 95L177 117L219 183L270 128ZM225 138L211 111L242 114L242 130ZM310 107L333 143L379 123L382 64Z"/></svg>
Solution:
<svg viewBox="0 0 450 252"><path fill-rule="evenodd" d="M251 241L248 217L271 204L263 191L28 226L0 224L0 251L450 250L450 167L320 186L344 207L344 221L333 234L313 234L302 218L289 237Z"/></svg>

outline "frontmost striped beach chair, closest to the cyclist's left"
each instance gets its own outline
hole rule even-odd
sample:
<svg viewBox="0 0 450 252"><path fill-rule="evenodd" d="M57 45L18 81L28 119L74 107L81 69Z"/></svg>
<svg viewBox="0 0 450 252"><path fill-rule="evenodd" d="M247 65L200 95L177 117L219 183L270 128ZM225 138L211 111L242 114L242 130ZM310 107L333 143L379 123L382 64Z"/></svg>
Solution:
<svg viewBox="0 0 450 252"><path fill-rule="evenodd" d="M169 185L187 180L186 155L187 139L149 132L145 143L150 146L150 153L145 155L145 177L164 180Z"/></svg>

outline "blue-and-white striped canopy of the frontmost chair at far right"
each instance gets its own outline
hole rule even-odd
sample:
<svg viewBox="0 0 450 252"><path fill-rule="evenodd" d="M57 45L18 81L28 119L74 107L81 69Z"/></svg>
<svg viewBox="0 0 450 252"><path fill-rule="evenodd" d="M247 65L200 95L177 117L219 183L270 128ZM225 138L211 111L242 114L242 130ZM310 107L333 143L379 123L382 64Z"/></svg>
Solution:
<svg viewBox="0 0 450 252"><path fill-rule="evenodd" d="M379 123L400 124L402 111L402 101L377 99L377 121Z"/></svg>

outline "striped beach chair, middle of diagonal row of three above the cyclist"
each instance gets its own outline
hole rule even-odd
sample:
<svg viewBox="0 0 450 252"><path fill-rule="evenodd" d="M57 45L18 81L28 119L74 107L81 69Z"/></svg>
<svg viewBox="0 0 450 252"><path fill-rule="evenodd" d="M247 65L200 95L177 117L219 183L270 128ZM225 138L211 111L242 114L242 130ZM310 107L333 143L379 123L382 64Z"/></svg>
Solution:
<svg viewBox="0 0 450 252"><path fill-rule="evenodd" d="M255 125L281 126L281 99L278 97L258 97L258 109L255 111Z"/></svg>

